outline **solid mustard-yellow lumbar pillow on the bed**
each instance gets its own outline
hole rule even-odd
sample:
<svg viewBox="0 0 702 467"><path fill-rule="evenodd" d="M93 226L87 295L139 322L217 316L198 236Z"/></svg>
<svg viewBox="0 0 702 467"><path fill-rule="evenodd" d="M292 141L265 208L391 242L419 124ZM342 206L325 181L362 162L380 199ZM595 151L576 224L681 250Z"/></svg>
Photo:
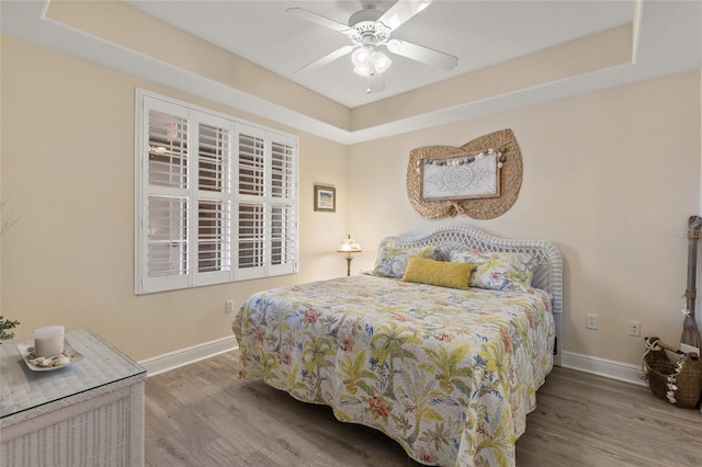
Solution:
<svg viewBox="0 0 702 467"><path fill-rule="evenodd" d="M412 257L407 263L403 281L465 291L474 267L473 263L448 263Z"/></svg>

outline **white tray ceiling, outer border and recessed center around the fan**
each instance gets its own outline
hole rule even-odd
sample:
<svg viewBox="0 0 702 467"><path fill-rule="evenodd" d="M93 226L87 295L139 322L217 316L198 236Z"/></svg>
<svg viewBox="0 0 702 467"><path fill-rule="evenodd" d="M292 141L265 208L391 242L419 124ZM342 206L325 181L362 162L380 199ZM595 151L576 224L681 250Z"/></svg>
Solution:
<svg viewBox="0 0 702 467"><path fill-rule="evenodd" d="M343 144L702 68L699 0L433 0L393 36L455 55L458 66L444 71L393 56L386 89L377 94L364 93L364 79L352 72L348 56L313 73L294 73L346 45L348 38L285 10L302 7L346 23L361 9L360 1L126 2L350 109L405 92L411 99L412 90L625 23L634 25L634 54L630 62L619 66L351 130L45 18L48 0L0 0L0 32ZM386 10L392 4L381 1L377 8Z"/></svg>

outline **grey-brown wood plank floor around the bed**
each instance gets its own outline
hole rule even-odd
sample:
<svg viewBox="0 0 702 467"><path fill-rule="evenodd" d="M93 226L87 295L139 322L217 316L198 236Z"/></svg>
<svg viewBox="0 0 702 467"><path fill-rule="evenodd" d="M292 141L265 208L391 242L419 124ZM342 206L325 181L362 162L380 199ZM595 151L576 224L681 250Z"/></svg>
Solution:
<svg viewBox="0 0 702 467"><path fill-rule="evenodd" d="M234 351L147 379L148 466L420 466L382 433L240 380L238 368ZM647 387L555 367L517 465L701 466L702 413Z"/></svg>

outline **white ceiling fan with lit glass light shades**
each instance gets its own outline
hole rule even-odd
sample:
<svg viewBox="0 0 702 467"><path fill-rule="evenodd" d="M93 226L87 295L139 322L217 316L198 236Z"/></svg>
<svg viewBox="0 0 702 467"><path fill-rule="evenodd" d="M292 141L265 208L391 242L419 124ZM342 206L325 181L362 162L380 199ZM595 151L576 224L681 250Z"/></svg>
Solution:
<svg viewBox="0 0 702 467"><path fill-rule="evenodd" d="M339 31L351 39L351 45L346 45L324 57L308 64L295 72L310 71L324 67L331 61L351 54L353 71L367 78L365 92L380 92L385 89L383 72L390 66L390 58L383 54L385 47L392 54L411 58L422 64L440 67L445 70L453 69L458 64L458 58L443 52L412 44L411 42L390 38L390 33L410 20L429 4L431 0L398 0L386 12L377 10L373 4L365 4L349 18L349 24L321 16L303 8L288 8L285 12L295 14L313 23Z"/></svg>

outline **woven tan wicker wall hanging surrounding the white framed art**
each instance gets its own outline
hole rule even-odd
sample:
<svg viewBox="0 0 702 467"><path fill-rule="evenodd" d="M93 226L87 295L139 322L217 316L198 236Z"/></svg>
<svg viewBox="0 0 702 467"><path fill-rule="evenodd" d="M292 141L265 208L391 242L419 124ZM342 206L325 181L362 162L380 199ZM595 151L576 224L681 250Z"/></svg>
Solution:
<svg viewBox="0 0 702 467"><path fill-rule="evenodd" d="M423 200L421 195L421 163L423 160L442 161L466 153L494 149L503 158L499 169L499 196L468 200ZM461 147L426 146L409 152L407 164L407 196L416 212L427 219L454 217L465 214L474 219L494 219L505 214L517 201L522 186L522 157L511 129L500 129L480 136Z"/></svg>

